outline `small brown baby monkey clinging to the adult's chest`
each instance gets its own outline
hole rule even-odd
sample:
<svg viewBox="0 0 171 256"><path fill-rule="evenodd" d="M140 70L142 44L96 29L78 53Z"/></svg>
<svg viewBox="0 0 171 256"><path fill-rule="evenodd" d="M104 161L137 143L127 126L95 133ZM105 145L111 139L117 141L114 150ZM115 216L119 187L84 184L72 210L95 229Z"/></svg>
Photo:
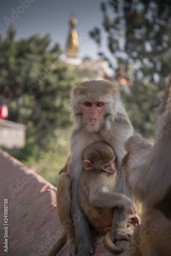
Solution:
<svg viewBox="0 0 171 256"><path fill-rule="evenodd" d="M115 193L117 182L116 156L103 141L93 142L82 154L83 170L79 178L78 201L87 219L101 234L104 245L112 253L123 251L111 239L114 207L125 207L133 225L139 224L134 201L123 194ZM131 234L130 234L131 235Z"/></svg>

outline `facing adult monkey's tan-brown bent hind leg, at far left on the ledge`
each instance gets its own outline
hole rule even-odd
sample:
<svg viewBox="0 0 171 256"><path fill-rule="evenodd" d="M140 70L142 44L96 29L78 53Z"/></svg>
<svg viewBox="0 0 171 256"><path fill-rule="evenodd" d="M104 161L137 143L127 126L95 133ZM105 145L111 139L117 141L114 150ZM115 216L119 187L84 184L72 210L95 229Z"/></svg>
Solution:
<svg viewBox="0 0 171 256"><path fill-rule="evenodd" d="M68 173L61 173L57 184L57 208L59 219L67 233L68 253L76 255L75 230L70 215L71 210L71 180Z"/></svg>

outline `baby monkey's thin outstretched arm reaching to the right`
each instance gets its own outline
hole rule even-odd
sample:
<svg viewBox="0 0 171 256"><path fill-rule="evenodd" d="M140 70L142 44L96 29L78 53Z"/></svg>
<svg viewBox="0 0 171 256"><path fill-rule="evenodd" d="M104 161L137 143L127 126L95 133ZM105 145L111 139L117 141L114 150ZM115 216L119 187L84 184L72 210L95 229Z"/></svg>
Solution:
<svg viewBox="0 0 171 256"><path fill-rule="evenodd" d="M134 201L123 194L105 191L105 187L101 191L97 190L96 193L94 193L94 189L91 191L90 203L97 207L125 207L129 214L136 214L137 212L137 206Z"/></svg>

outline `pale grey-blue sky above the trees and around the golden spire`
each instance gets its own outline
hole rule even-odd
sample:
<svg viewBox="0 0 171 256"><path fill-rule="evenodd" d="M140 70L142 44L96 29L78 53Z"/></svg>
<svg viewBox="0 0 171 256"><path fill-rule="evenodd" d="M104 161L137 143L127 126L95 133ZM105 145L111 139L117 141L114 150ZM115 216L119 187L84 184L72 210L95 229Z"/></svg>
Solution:
<svg viewBox="0 0 171 256"><path fill-rule="evenodd" d="M103 2L107 1L103 0ZM80 41L79 57L90 56L97 59L97 45L90 38L89 31L95 26L101 27L101 2L100 0L1 0L0 33L5 36L8 29L7 20L9 20L9 24L13 24L17 31L16 39L28 38L36 33L41 35L49 33L52 45L58 42L64 49L69 33L69 19L71 14L75 13ZM12 23L8 18L14 22ZM105 37L104 32L104 41ZM109 56L110 52L104 43L102 50Z"/></svg>

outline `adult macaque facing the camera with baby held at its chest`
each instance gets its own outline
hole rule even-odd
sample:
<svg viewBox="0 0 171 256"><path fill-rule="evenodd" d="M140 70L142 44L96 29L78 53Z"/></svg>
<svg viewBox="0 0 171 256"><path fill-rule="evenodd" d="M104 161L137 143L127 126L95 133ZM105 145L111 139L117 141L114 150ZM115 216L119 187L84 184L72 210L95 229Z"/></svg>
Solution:
<svg viewBox="0 0 171 256"><path fill-rule="evenodd" d="M78 204L78 180L82 170L82 153L84 148L94 141L103 140L115 152L117 159L115 192L132 198L132 194L125 186L125 176L121 172L121 159L125 155L124 142L133 134L133 127L122 106L118 89L108 81L85 81L75 87L71 94L72 115L74 129L71 135L71 159L68 174L71 178L71 217L74 223L75 238L68 244L69 254L87 256L94 253L88 220ZM65 173L63 174L65 176ZM66 174L67 175L67 174ZM59 176L60 177L60 176ZM65 183L62 177L62 181ZM64 186L65 184L62 184ZM67 186L59 192L57 197L58 210L62 209ZM67 210L67 209L66 209ZM115 207L112 223L112 241L129 240L127 230L127 211L125 207ZM67 223L67 220L66 220ZM66 230L67 232L67 230ZM74 232L73 232L74 233ZM76 248L74 246L76 243Z"/></svg>

